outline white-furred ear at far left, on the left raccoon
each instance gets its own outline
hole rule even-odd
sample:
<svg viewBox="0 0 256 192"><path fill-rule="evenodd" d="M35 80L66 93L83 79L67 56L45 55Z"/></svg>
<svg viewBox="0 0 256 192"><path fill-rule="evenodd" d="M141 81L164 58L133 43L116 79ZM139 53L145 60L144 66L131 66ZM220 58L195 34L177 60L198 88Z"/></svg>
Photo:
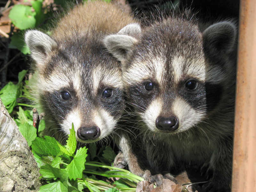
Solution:
<svg viewBox="0 0 256 192"><path fill-rule="evenodd" d="M37 30L27 31L25 42L30 49L31 57L36 61L37 65L43 65L52 48L57 46L57 43L50 36Z"/></svg>

